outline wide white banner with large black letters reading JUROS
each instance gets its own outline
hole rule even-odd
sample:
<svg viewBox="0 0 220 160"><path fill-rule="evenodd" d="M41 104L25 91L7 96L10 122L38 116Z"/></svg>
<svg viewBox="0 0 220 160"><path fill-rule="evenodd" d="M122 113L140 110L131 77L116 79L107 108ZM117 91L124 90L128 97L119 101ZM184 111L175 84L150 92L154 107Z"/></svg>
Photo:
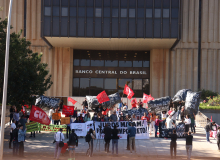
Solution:
<svg viewBox="0 0 220 160"><path fill-rule="evenodd" d="M95 132L96 132L96 139L104 139L104 127L105 124L108 124L112 129L116 125L119 130L119 137L120 139L127 139L128 133L128 123L127 121L121 122L95 122ZM132 123L135 124L136 128L136 136L135 139L149 139L148 133L148 126L147 122L144 121L133 121Z"/></svg>

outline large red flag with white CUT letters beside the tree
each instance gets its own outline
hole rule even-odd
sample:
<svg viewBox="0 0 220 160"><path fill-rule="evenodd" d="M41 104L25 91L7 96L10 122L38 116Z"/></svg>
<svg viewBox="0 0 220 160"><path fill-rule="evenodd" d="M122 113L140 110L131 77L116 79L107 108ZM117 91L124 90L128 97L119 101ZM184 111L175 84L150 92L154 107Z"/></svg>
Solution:
<svg viewBox="0 0 220 160"><path fill-rule="evenodd" d="M50 119L47 114L41 108L36 106L32 106L29 119L31 121L39 122L41 124L50 124Z"/></svg>

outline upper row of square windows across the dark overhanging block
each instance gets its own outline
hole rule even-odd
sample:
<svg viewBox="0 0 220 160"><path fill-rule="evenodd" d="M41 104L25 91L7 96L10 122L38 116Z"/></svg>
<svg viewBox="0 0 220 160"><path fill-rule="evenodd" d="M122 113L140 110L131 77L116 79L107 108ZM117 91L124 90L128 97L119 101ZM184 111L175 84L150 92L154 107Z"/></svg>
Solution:
<svg viewBox="0 0 220 160"><path fill-rule="evenodd" d="M154 13L153 13L154 11ZM104 15L103 17L110 17L110 8L104 8ZM87 17L93 17L93 14L95 17L102 17L102 8L95 8L95 13L93 13L93 8L87 8L87 13L86 16ZM125 9L122 8L120 9L120 13L119 13L119 9L113 8L112 9L112 17L120 17L122 18L126 18L127 16L129 18L135 18L136 16L136 12L135 9ZM138 18L152 18L154 14L154 18L169 18L170 17L170 9L163 9L161 12L161 9L146 9L146 16L144 13L144 9L143 8L139 8L137 10L137 17ZM162 14L162 15L161 15ZM51 14L51 7L45 7L44 8L44 15L45 16L59 16L60 15L60 7L53 7L53 13ZM68 16L68 7L61 7L61 16ZM70 16L71 17L76 17L77 13L76 13L76 7L70 7ZM85 16L85 8L83 7L79 7L78 9L78 16L79 17L84 17ZM172 18L178 18L178 8L173 8L171 10L171 17Z"/></svg>

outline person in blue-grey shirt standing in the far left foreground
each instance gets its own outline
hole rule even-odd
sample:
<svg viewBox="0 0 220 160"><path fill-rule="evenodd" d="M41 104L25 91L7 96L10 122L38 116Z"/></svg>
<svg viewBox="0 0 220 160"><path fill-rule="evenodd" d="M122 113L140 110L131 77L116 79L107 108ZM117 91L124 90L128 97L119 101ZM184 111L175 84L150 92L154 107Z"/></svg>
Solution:
<svg viewBox="0 0 220 160"><path fill-rule="evenodd" d="M19 156L24 157L24 141L25 141L25 134L26 130L23 130L23 125L19 126L19 131L18 131L18 144L19 144Z"/></svg>

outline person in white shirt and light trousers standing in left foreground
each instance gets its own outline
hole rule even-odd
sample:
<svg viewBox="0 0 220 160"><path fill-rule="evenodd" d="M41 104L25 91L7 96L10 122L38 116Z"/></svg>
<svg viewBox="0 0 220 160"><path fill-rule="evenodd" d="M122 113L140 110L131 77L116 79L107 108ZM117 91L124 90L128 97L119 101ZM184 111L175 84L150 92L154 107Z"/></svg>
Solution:
<svg viewBox="0 0 220 160"><path fill-rule="evenodd" d="M54 135L54 140L56 141L54 159L59 159L59 157L60 157L62 147L59 146L59 143L64 140L64 135L63 135L62 131L63 131L62 128L60 128L60 131L58 131Z"/></svg>

